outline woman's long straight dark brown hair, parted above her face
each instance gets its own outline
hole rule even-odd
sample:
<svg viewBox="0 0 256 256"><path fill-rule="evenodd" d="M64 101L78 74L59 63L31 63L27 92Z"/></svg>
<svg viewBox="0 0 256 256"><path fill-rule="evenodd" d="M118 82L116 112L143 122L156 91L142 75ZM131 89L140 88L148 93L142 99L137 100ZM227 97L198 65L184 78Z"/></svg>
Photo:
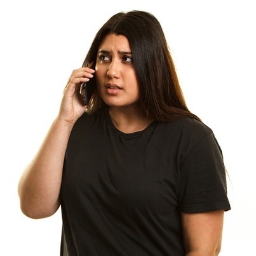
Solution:
<svg viewBox="0 0 256 256"><path fill-rule="evenodd" d="M163 123L182 117L201 121L185 104L165 34L156 17L145 11L113 15L98 30L84 66L96 62L98 46L111 33L126 36L130 43L139 84L139 103L145 116ZM94 112L104 105L96 92L87 109Z"/></svg>

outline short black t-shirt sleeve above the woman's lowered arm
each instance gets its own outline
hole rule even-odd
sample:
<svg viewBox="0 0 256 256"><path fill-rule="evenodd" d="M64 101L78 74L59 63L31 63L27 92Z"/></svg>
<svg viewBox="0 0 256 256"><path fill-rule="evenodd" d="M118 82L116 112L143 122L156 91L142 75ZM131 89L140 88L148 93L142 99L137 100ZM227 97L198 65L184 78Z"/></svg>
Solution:
<svg viewBox="0 0 256 256"><path fill-rule="evenodd" d="M177 196L184 213L231 209L222 151L212 132L203 135L180 158Z"/></svg>

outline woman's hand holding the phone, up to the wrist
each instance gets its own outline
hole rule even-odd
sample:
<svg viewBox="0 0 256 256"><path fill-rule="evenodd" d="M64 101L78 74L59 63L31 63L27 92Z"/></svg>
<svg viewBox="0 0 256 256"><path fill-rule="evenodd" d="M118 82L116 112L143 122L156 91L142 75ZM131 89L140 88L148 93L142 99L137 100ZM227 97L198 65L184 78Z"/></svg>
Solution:
<svg viewBox="0 0 256 256"><path fill-rule="evenodd" d="M74 124L83 114L86 106L79 93L80 87L82 83L88 82L93 77L94 72L95 70L90 67L81 67L72 72L63 92L58 119Z"/></svg>

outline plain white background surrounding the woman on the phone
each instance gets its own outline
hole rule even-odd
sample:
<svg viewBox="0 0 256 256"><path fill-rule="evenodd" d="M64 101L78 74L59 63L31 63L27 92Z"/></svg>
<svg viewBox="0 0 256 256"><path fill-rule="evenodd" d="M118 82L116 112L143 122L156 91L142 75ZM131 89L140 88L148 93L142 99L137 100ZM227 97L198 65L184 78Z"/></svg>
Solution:
<svg viewBox="0 0 256 256"><path fill-rule="evenodd" d="M25 217L18 179L97 30L130 10L150 11L161 22L187 105L222 147L232 210L225 215L220 255L256 255L256 15L246 0L1 1L1 255L59 255L60 211L48 219Z"/></svg>

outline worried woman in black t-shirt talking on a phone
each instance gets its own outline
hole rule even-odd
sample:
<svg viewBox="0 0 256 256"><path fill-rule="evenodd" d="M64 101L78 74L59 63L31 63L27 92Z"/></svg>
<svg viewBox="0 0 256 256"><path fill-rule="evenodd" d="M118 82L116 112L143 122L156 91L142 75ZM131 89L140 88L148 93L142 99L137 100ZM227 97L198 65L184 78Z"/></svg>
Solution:
<svg viewBox="0 0 256 256"><path fill-rule="evenodd" d="M154 16L118 13L98 31L18 192L34 219L61 206L61 255L219 254L222 152L187 109Z"/></svg>

